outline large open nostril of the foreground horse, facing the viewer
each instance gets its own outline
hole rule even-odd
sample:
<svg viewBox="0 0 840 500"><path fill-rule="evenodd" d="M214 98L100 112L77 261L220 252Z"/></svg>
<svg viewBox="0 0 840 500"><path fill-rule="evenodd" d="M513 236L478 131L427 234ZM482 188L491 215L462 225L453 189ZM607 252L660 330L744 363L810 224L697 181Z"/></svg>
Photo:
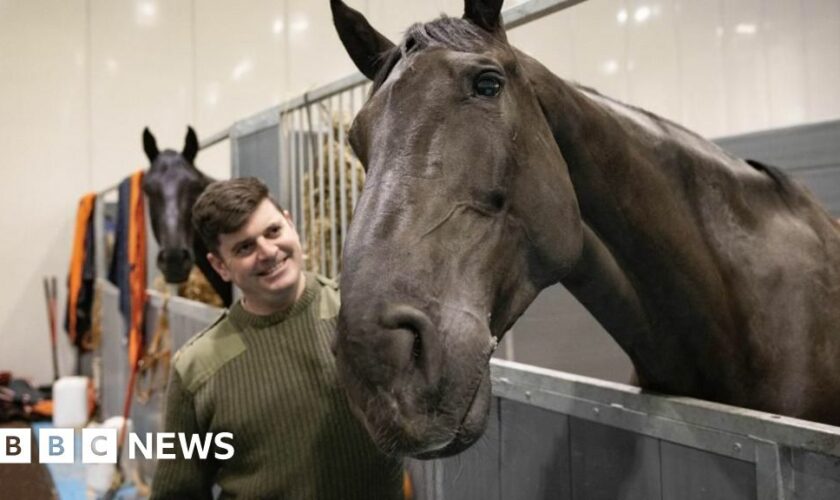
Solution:
<svg viewBox="0 0 840 500"><path fill-rule="evenodd" d="M410 347L411 362L423 372L429 384L436 384L440 377L442 353L434 338L435 327L429 317L419 309L397 304L387 306L380 321L387 330L410 332L414 335ZM397 344L394 347L399 347L399 340L395 338L394 342ZM402 354L399 354L401 359L408 359L406 351L409 346L406 344L407 342L403 341L399 347L399 350L402 350Z"/></svg>

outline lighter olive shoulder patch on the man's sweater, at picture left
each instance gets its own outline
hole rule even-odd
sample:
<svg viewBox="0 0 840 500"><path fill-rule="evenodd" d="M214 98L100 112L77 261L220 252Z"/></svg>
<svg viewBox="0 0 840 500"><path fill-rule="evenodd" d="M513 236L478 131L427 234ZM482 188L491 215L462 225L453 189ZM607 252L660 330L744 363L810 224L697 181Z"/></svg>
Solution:
<svg viewBox="0 0 840 500"><path fill-rule="evenodd" d="M195 393L225 364L245 352L242 336L227 318L227 312L178 349L175 370L190 393Z"/></svg>

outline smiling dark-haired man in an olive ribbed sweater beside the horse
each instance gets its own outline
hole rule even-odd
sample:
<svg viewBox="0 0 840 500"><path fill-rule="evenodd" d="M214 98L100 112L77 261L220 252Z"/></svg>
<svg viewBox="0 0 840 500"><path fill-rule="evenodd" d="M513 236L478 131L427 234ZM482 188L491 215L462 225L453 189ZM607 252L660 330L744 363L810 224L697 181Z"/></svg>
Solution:
<svg viewBox="0 0 840 500"><path fill-rule="evenodd" d="M164 430L230 432L235 452L186 459L176 447L158 460L152 498L211 498L214 483L221 498L402 498L402 464L375 448L337 385L338 287L303 270L289 213L249 178L211 184L192 218L242 298L176 354Z"/></svg>

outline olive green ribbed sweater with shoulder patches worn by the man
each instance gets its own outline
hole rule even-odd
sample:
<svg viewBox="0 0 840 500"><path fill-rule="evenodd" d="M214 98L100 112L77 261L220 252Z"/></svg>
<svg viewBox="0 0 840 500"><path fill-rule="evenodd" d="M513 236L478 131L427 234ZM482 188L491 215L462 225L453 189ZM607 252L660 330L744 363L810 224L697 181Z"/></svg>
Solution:
<svg viewBox="0 0 840 500"><path fill-rule="evenodd" d="M158 460L153 499L402 498L402 464L381 455L336 382L335 283L306 274L288 310L237 302L175 356L164 430L230 432L229 460ZM177 443L177 441L176 441Z"/></svg>

